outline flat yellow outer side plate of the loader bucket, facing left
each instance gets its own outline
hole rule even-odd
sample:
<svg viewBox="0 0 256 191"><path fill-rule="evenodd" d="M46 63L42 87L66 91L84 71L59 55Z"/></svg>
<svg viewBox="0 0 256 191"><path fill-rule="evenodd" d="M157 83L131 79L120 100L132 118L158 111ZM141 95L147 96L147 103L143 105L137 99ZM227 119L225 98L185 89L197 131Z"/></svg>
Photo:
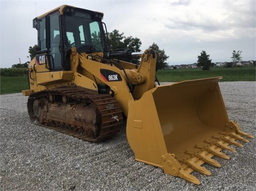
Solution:
<svg viewBox="0 0 256 191"><path fill-rule="evenodd" d="M166 154L167 149L151 91L140 100L129 101L126 133L135 160L162 166L159 156Z"/></svg>

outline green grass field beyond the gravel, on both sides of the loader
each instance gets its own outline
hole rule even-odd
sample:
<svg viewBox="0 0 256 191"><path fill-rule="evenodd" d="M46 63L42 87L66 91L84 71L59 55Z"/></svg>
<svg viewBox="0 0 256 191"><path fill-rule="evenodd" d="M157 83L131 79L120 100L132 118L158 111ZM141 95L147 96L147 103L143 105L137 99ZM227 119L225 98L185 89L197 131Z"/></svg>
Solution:
<svg viewBox="0 0 256 191"><path fill-rule="evenodd" d="M255 67L223 68L213 67L209 71L198 68L159 70L156 72L160 82L179 82L191 79L202 79L222 76L222 81L256 81ZM29 89L28 77L0 77L0 94L21 93Z"/></svg>

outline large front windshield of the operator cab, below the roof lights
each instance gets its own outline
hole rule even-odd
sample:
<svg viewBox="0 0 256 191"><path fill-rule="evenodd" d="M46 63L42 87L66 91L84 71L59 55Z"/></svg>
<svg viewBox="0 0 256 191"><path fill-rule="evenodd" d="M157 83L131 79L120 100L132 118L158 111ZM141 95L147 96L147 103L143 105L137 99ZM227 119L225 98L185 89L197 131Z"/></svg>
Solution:
<svg viewBox="0 0 256 191"><path fill-rule="evenodd" d="M101 35L101 22L91 20L90 14L76 12L75 15L65 16L66 38L71 47L77 52L103 51L104 44Z"/></svg>

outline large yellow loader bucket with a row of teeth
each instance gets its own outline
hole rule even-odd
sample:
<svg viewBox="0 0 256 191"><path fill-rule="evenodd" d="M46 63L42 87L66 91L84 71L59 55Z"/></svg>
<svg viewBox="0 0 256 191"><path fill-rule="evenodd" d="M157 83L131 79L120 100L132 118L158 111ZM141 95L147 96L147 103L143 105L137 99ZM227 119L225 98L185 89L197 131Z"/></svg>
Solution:
<svg viewBox="0 0 256 191"><path fill-rule="evenodd" d="M212 159L236 152L230 144L248 142L236 121L229 121L218 82L221 77L157 86L139 100L129 101L127 139L135 160L161 167L165 173L196 185L191 175L211 175L202 164L220 167Z"/></svg>

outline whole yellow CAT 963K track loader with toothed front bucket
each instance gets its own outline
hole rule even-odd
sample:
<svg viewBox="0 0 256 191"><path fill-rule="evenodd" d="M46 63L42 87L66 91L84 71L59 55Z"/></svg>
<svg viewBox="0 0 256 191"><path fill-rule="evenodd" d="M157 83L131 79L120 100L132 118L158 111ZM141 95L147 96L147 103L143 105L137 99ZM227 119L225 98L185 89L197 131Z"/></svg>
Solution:
<svg viewBox="0 0 256 191"><path fill-rule="evenodd" d="M136 161L199 185L191 172L211 175L204 163L220 167L214 156L229 159L222 150L236 152L229 145L253 138L229 120L221 77L159 85L156 53L110 49L102 19L62 5L33 20L39 49L28 65L30 89L22 91L30 119L97 142L116 135L127 118Z"/></svg>

